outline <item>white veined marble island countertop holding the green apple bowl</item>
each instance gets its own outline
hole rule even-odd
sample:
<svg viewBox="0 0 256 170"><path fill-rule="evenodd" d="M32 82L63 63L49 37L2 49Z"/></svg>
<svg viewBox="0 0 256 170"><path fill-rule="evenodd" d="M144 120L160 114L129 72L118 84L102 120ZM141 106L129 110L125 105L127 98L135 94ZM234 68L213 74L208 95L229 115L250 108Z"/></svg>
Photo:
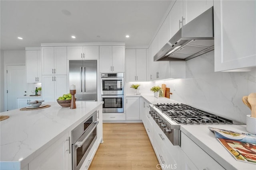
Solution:
<svg viewBox="0 0 256 170"><path fill-rule="evenodd" d="M57 102L44 103L51 107L20 111L5 111L10 116L0 121L0 161L16 162L20 168L28 164L86 119L103 102L76 102L76 109L61 107Z"/></svg>

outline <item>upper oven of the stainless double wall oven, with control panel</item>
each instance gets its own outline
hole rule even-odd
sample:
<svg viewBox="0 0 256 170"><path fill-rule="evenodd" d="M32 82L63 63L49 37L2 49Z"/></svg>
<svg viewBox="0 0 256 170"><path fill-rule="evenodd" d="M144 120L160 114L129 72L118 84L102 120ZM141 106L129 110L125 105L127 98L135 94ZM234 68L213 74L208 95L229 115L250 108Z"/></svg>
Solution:
<svg viewBox="0 0 256 170"><path fill-rule="evenodd" d="M101 73L102 95L124 95L124 73Z"/></svg>

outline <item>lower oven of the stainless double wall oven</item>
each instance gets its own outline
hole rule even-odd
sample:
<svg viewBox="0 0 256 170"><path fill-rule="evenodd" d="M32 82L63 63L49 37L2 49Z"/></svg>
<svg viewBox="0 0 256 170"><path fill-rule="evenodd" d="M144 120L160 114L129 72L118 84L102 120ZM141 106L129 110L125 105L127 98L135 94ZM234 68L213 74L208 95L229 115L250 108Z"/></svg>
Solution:
<svg viewBox="0 0 256 170"><path fill-rule="evenodd" d="M102 95L101 101L103 113L123 113L124 112L124 95Z"/></svg>

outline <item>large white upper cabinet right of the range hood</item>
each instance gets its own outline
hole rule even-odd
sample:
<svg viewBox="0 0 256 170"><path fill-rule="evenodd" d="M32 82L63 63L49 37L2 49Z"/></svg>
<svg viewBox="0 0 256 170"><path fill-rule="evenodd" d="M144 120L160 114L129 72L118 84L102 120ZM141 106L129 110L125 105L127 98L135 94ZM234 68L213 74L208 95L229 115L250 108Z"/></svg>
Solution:
<svg viewBox="0 0 256 170"><path fill-rule="evenodd" d="M214 70L256 66L256 1L214 0Z"/></svg>

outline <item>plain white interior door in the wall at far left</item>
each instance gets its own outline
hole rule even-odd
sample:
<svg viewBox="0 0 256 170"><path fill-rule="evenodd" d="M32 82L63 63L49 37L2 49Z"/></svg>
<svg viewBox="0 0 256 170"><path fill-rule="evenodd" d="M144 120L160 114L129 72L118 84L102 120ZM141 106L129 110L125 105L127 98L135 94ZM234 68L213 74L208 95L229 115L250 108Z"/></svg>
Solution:
<svg viewBox="0 0 256 170"><path fill-rule="evenodd" d="M7 90L7 111L17 109L17 98L24 96L27 91L26 66L7 65L6 66L6 90Z"/></svg>

